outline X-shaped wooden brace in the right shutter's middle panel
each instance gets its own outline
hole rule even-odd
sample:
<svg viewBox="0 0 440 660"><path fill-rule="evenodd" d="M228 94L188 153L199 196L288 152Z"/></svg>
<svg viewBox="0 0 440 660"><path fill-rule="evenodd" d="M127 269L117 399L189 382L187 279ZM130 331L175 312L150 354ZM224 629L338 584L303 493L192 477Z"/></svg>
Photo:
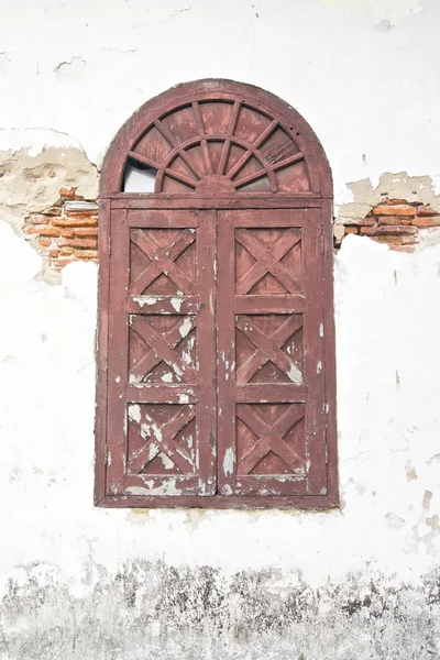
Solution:
<svg viewBox="0 0 440 660"><path fill-rule="evenodd" d="M280 350L280 346L287 339L295 334L301 326L301 318L289 316L273 334L267 336L252 322L250 317L240 316L237 321L237 328L258 350L239 369L237 374L238 382L248 383L271 360L293 383L302 383L302 374L298 366L289 355Z"/></svg>

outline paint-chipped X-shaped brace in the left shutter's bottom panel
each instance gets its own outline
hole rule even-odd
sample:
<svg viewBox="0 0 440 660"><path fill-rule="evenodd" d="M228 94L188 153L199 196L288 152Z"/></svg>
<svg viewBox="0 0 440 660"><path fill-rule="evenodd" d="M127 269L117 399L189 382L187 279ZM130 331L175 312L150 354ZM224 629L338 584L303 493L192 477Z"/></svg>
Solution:
<svg viewBox="0 0 440 660"><path fill-rule="evenodd" d="M130 417L130 411L129 411ZM158 425L147 413L143 413L143 419L138 422L132 417L131 421L138 427L138 442L141 446L138 451L130 455L129 466L132 474L140 472L157 457L158 453L166 454L173 463L187 474L194 470L190 458L174 442L174 438L196 417L195 406L185 406L180 408L165 424Z"/></svg>

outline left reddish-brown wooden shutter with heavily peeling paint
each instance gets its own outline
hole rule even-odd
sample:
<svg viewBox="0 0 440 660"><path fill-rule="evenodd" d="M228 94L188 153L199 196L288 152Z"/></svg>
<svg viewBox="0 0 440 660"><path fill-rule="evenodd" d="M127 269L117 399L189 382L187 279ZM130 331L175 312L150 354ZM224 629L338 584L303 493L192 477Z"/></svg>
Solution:
<svg viewBox="0 0 440 660"><path fill-rule="evenodd" d="M114 495L216 492L215 212L119 211L110 257Z"/></svg>

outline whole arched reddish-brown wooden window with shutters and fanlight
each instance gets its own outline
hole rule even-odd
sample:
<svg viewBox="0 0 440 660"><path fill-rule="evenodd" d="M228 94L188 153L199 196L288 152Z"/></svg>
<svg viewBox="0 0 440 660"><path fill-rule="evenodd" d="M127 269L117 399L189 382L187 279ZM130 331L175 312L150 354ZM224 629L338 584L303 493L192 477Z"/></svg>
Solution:
<svg viewBox="0 0 440 660"><path fill-rule="evenodd" d="M331 175L261 89L183 85L101 177L96 503L338 505Z"/></svg>

